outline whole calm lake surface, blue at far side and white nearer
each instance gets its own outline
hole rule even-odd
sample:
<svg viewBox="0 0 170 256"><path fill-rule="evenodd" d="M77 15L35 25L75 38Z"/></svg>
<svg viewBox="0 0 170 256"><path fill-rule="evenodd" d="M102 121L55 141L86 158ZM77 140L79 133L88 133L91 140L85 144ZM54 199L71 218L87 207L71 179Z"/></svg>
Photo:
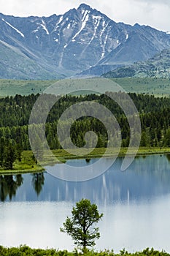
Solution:
<svg viewBox="0 0 170 256"><path fill-rule="evenodd" d="M133 252L149 246L170 252L170 156L138 157L125 172L119 171L122 161L118 158L102 176L84 182L48 173L0 176L0 244L74 249L59 228L85 197L104 213L95 249ZM90 164L84 159L68 163Z"/></svg>

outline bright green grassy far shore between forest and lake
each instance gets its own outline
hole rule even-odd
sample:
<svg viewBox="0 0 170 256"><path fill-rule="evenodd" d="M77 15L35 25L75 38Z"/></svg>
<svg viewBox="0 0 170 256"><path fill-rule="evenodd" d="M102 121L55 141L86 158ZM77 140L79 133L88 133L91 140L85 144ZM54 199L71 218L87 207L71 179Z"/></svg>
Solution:
<svg viewBox="0 0 170 256"><path fill-rule="evenodd" d="M119 157L125 157L128 148L121 148L119 152ZM48 154L44 154L42 166L36 164L33 159L33 154L31 151L23 151L21 162L16 161L13 170L0 169L1 174L16 174L16 173L38 173L45 170L45 166L54 165L55 163L66 162L68 159L91 159L100 157L115 157L117 151L115 148L108 148L107 154L104 155L106 148L95 148L89 154L80 154L80 150L74 150L74 154L69 154L63 149L53 150L55 159L51 159ZM78 154L79 152L79 154ZM134 149L131 148L128 156L134 154ZM170 154L170 148L139 148L136 157L147 156L150 154Z"/></svg>

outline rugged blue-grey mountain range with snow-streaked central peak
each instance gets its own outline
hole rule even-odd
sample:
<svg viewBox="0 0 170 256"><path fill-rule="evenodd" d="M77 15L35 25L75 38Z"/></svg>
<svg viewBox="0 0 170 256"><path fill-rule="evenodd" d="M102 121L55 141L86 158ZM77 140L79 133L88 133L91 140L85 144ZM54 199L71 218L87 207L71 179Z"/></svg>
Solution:
<svg viewBox="0 0 170 256"><path fill-rule="evenodd" d="M170 48L170 34L115 23L87 4L50 17L0 13L0 28L0 78L101 75Z"/></svg>

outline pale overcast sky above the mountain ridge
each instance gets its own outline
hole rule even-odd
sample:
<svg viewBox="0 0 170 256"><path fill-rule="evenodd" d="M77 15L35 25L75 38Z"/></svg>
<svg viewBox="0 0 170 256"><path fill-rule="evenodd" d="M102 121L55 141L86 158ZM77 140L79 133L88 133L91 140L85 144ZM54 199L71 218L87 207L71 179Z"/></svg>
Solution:
<svg viewBox="0 0 170 256"><path fill-rule="evenodd" d="M116 22L170 31L170 0L0 0L0 12L21 17L59 15L81 3L104 12Z"/></svg>

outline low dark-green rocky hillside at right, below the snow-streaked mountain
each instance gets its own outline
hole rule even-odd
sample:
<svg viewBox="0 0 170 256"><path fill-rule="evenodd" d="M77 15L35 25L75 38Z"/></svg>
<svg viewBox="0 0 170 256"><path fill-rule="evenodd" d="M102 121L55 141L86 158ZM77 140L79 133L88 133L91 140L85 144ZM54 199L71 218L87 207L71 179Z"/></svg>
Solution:
<svg viewBox="0 0 170 256"><path fill-rule="evenodd" d="M103 75L104 78L170 78L170 49L147 61L139 61L130 66L120 67Z"/></svg>

